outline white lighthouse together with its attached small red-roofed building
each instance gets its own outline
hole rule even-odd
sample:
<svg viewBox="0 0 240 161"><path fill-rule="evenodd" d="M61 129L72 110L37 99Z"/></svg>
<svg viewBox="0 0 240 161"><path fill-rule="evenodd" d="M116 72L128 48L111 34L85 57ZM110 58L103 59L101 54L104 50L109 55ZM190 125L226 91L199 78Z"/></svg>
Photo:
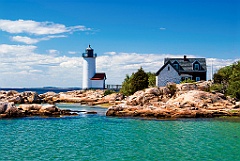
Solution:
<svg viewBox="0 0 240 161"><path fill-rule="evenodd" d="M83 57L83 82L82 89L104 89L105 73L96 73L96 58L97 54L89 45L82 54Z"/></svg>

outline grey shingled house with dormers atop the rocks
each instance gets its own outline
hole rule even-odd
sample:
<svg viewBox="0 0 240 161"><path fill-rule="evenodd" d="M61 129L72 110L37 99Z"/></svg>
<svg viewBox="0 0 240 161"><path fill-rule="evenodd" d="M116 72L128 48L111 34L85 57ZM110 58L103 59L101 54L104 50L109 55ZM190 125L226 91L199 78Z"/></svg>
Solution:
<svg viewBox="0 0 240 161"><path fill-rule="evenodd" d="M206 80L205 58L165 58L164 65L156 73L156 85L165 86L168 82L180 83L183 80Z"/></svg>

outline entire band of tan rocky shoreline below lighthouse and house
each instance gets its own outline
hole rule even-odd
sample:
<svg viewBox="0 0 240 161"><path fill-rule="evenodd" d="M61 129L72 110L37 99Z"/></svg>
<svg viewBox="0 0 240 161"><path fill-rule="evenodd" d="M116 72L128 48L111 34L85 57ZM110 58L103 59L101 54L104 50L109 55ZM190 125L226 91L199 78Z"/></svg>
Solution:
<svg viewBox="0 0 240 161"><path fill-rule="evenodd" d="M174 84L147 88L124 97L120 93L104 95L104 90L68 92L0 91L0 118L26 116L78 115L94 111L62 110L55 103L80 103L110 106L107 116L151 118L240 117L240 102L221 93L209 92L211 82ZM17 106L16 106L17 104Z"/></svg>

